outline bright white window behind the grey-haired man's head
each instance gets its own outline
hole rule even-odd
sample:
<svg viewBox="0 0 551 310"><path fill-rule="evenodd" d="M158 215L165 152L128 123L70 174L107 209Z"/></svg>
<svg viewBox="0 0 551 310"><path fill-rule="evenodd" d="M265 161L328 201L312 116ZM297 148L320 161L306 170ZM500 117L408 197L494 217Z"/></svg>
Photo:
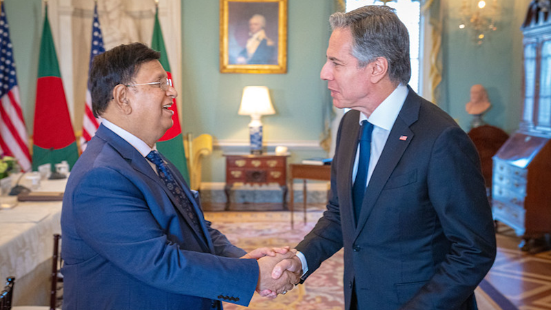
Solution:
<svg viewBox="0 0 551 310"><path fill-rule="evenodd" d="M382 5L382 1L377 0L346 0L346 12L355 10L362 6ZM408 28L410 37L410 59L411 59L411 79L409 85L417 94L419 94L419 43L420 30L419 21L421 16L421 8L419 1L415 0L396 0L396 2L388 2L387 6L395 8L396 14L402 20L406 28Z"/></svg>

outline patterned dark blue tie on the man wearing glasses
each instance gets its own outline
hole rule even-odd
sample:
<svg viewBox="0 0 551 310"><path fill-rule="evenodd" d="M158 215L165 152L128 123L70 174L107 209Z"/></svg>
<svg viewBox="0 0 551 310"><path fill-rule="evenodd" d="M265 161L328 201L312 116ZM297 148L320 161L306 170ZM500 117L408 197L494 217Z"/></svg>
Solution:
<svg viewBox="0 0 551 310"><path fill-rule="evenodd" d="M178 183L176 182L174 175L172 175L172 172L170 172L170 169L167 167L165 161L163 161L163 158L160 158L159 152L151 151L149 152L149 154L147 154L146 157L147 159L149 159L149 161L157 166L157 172L161 180L163 180L163 183L165 183L168 190L172 193L174 198L176 198L176 203L183 207L183 209L187 213L187 216L194 224L194 228L197 231L202 231L200 229L199 221L197 219L197 214L194 211L193 205L191 205L191 201L189 201L189 198L187 198L182 187L180 187L180 185L178 185Z"/></svg>

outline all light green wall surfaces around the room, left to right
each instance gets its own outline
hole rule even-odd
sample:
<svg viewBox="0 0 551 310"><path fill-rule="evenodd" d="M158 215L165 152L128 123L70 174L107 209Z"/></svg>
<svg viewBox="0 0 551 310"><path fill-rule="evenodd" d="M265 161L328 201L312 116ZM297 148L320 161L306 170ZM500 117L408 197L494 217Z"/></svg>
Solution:
<svg viewBox="0 0 551 310"><path fill-rule="evenodd" d="M220 74L219 1L181 0L183 30L183 132L209 133L217 140L246 140L249 117L237 114L242 88L267 85L277 114L262 118L266 141L315 141L323 127L322 106L329 102L320 81L330 30L327 19L333 0L289 0L287 74ZM470 86L488 90L492 109L485 119L507 132L517 129L521 114L522 36L519 30L530 0L503 0L498 30L477 46L459 30L461 1L443 1L444 39L441 107L468 130L465 112ZM42 23L41 0L5 0L21 105L32 130L34 96ZM169 40L170 38L165 38ZM63 61L63 59L60 59ZM293 151L293 149L291 149ZM324 152L293 151L290 162L324 156ZM203 180L221 182L225 170L216 149L203 167Z"/></svg>

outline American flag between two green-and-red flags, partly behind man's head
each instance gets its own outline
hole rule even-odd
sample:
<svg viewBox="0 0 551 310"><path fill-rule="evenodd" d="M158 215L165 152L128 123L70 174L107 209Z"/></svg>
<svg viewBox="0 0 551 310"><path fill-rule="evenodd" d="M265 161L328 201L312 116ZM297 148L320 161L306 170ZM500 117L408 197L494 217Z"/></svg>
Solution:
<svg viewBox="0 0 551 310"><path fill-rule="evenodd" d="M92 60L94 56L105 52L103 48L103 37L101 36L101 28L99 27L98 19L98 4L94 6L94 21L92 21L92 48L90 49L90 65L92 67ZM82 122L82 137L81 137L81 152L86 149L86 144L98 130L100 120L94 117L92 113L92 96L90 94L90 81L86 90L86 105L84 107L84 119Z"/></svg>

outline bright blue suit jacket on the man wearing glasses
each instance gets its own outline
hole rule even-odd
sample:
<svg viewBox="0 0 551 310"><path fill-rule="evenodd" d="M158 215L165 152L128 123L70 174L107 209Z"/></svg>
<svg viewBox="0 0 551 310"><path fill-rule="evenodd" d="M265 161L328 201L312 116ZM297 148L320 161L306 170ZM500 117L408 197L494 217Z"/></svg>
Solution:
<svg viewBox="0 0 551 310"><path fill-rule="evenodd" d="M258 263L205 221L176 167L202 231L132 145L101 125L65 189L63 309L220 309L247 305ZM176 205L176 206L175 206Z"/></svg>

